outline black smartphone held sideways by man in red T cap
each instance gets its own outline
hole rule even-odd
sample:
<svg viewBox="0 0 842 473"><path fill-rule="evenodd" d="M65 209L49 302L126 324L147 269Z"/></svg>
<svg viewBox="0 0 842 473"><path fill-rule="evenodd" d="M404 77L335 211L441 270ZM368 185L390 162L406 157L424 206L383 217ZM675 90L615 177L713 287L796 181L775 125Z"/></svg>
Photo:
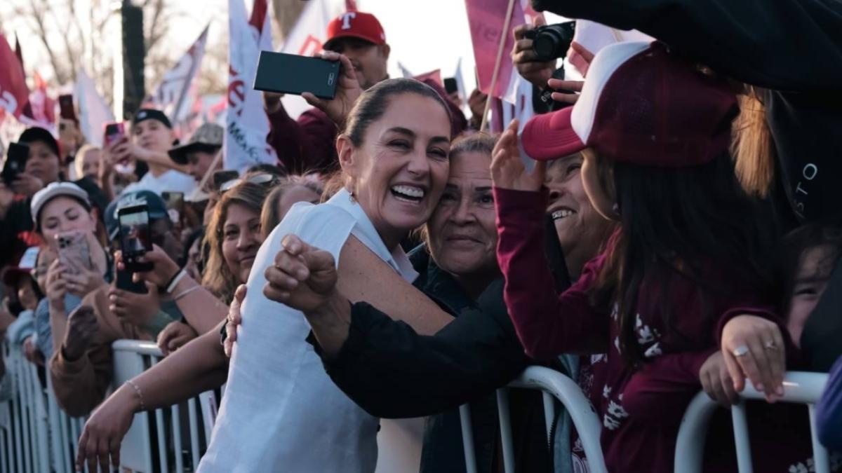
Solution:
<svg viewBox="0 0 842 473"><path fill-rule="evenodd" d="M309 92L318 98L333 98L338 82L339 61L264 50L260 51L254 88L294 95Z"/></svg>

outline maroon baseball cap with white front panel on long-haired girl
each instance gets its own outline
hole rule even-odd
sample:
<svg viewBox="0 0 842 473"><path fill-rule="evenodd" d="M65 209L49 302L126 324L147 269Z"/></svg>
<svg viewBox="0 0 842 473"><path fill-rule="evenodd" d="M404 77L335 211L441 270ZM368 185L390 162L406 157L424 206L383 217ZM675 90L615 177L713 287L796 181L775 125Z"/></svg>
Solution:
<svg viewBox="0 0 842 473"><path fill-rule="evenodd" d="M529 157L547 161L586 147L617 162L682 167L727 151L737 98L724 82L659 42L600 50L572 107L526 123Z"/></svg>

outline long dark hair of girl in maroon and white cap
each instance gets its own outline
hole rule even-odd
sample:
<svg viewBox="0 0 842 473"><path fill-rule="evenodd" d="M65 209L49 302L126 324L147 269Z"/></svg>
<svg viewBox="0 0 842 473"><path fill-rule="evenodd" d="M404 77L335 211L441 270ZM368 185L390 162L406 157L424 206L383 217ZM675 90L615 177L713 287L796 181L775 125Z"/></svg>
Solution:
<svg viewBox="0 0 842 473"><path fill-rule="evenodd" d="M701 312L707 320L719 316L712 313L711 295L772 296L770 256L778 232L770 209L738 183L730 156L674 168L612 165L600 157L597 166L613 166L621 232L591 300L601 311L617 304L627 364L637 366L644 360L635 331L637 294L644 279L658 288L663 327L688 343L690 334L674 328L680 302L674 300L675 279L690 279L701 291Z"/></svg>

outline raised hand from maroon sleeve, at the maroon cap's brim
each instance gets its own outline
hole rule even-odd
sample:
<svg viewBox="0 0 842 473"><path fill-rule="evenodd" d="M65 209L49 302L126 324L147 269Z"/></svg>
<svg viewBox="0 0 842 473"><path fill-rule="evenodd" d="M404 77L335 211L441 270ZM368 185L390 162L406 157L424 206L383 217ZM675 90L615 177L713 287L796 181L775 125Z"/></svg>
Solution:
<svg viewBox="0 0 842 473"><path fill-rule="evenodd" d="M518 148L518 120L512 120L491 152L491 178L500 189L537 192L544 185L546 162L536 162L535 170L526 171Z"/></svg>

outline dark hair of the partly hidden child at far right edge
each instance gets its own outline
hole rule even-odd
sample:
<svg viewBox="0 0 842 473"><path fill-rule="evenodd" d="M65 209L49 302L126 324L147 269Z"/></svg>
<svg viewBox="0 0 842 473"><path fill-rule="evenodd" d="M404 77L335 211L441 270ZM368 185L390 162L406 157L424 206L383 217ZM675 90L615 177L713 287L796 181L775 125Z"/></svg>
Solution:
<svg viewBox="0 0 842 473"><path fill-rule="evenodd" d="M795 289L798 270L802 265L804 253L817 247L828 247L830 252L824 255L829 268L834 268L842 257L842 215L833 215L819 221L799 226L790 231L783 238L777 267L778 279L781 281L781 314L789 314L792 291Z"/></svg>

